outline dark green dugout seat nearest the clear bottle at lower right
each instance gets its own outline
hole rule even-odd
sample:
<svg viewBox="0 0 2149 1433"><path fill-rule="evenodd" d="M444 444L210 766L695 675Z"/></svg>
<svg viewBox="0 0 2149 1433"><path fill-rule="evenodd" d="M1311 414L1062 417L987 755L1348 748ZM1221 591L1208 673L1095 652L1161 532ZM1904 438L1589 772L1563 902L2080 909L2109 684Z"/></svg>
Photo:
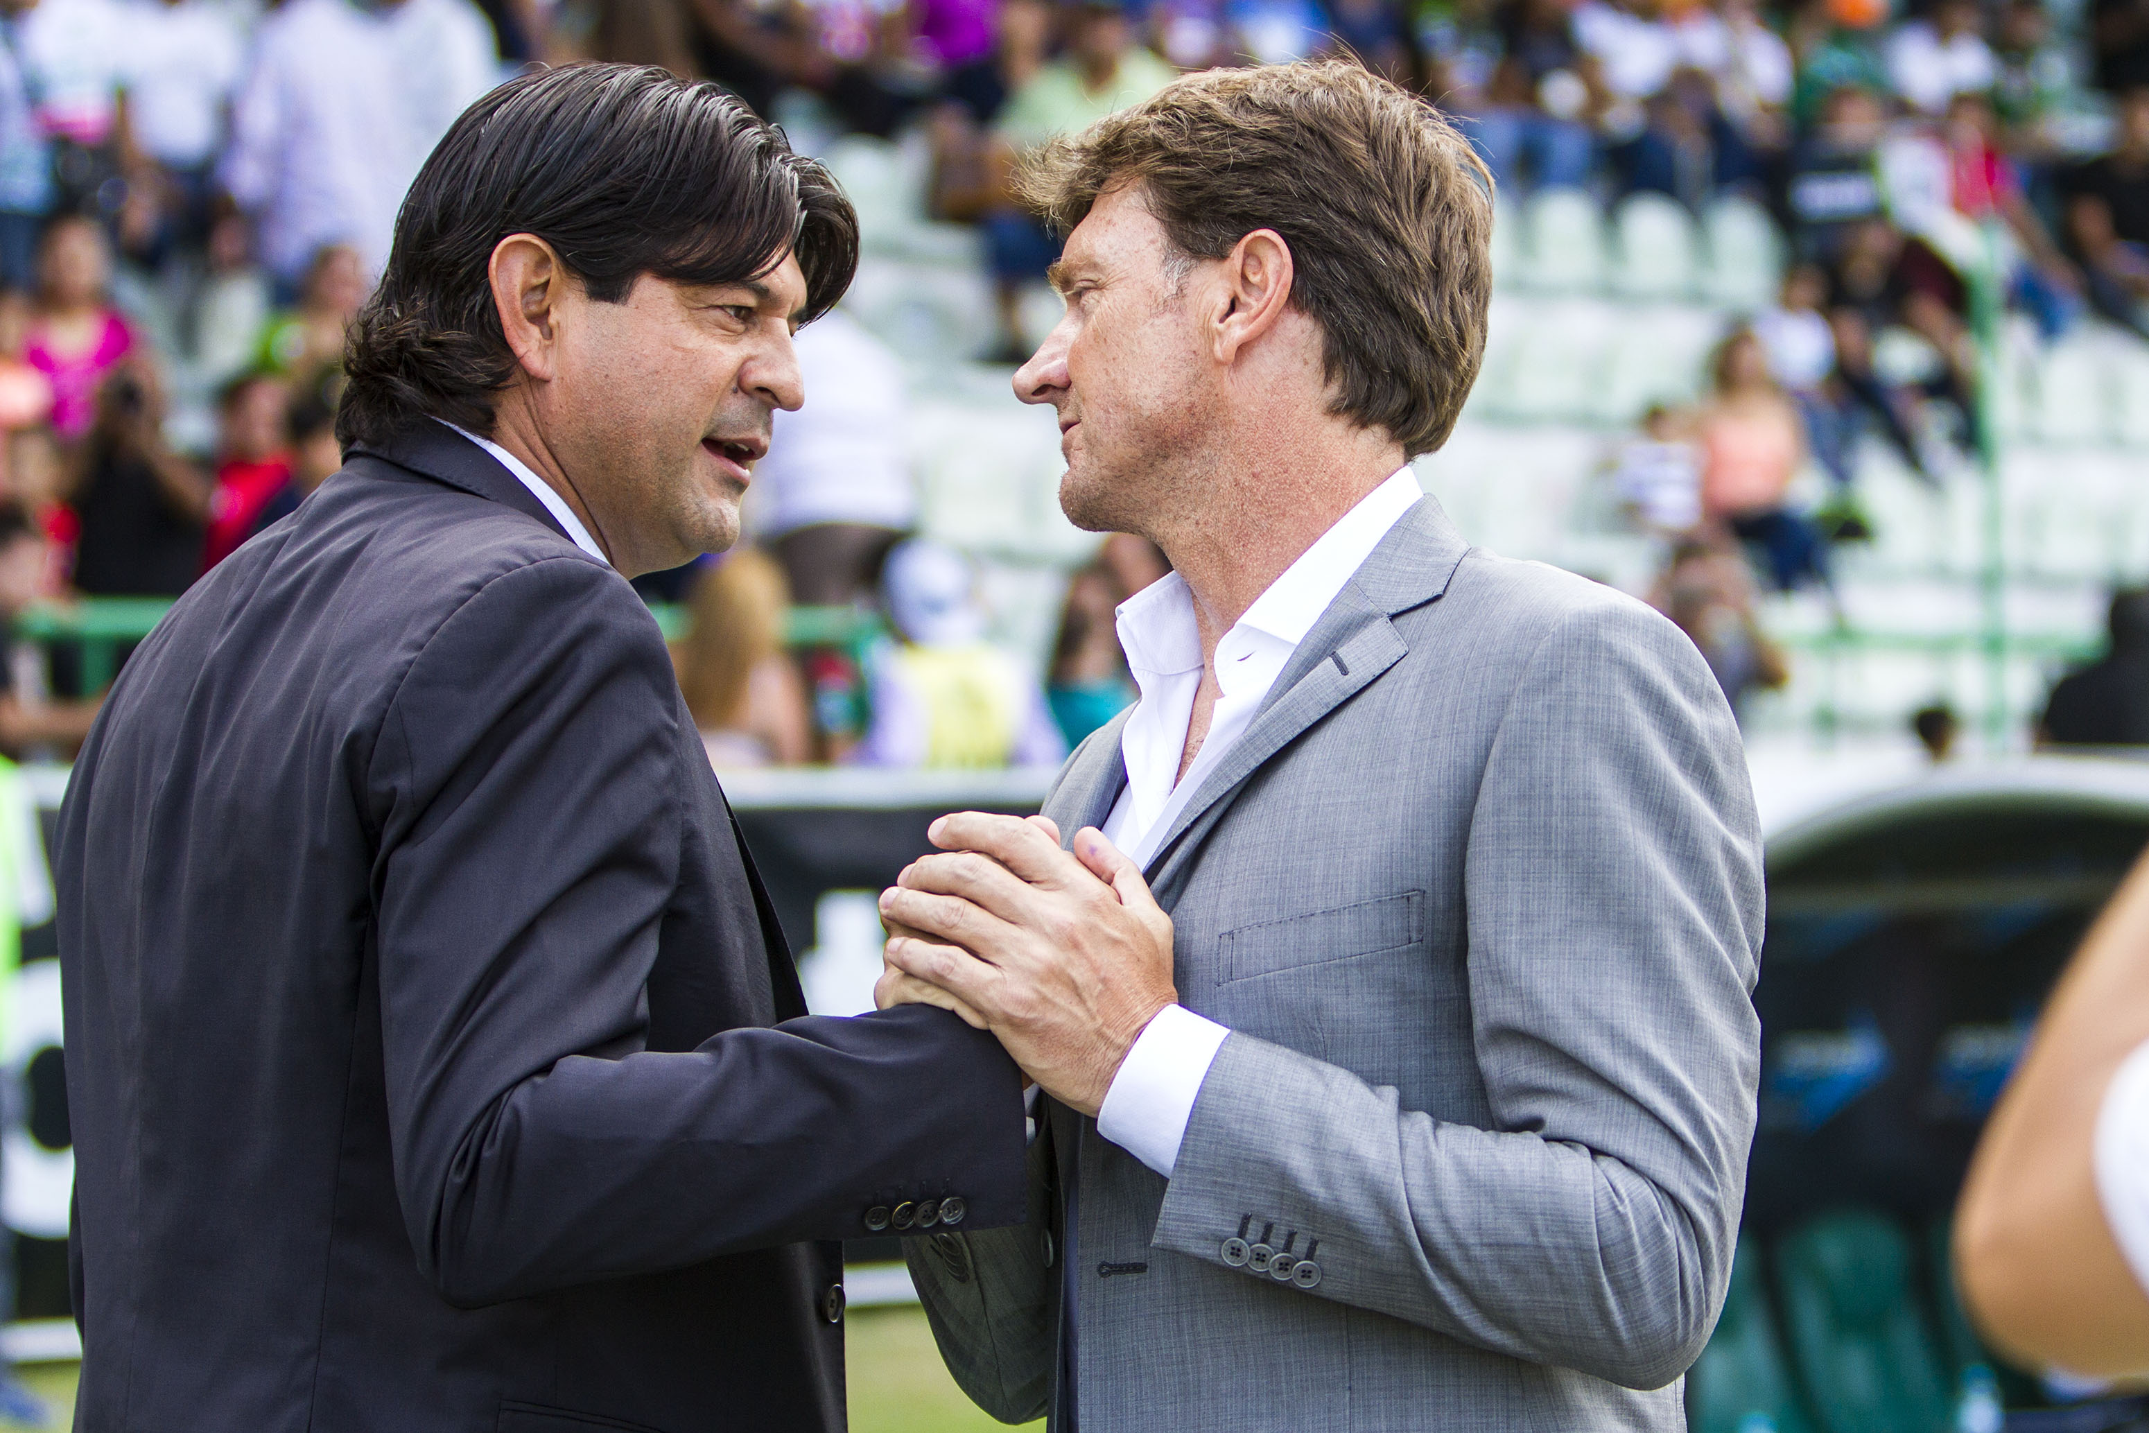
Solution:
<svg viewBox="0 0 2149 1433"><path fill-rule="evenodd" d="M1941 1433L1949 1381L1893 1220L1822 1214L1777 1244L1792 1362L1822 1433Z"/></svg>

